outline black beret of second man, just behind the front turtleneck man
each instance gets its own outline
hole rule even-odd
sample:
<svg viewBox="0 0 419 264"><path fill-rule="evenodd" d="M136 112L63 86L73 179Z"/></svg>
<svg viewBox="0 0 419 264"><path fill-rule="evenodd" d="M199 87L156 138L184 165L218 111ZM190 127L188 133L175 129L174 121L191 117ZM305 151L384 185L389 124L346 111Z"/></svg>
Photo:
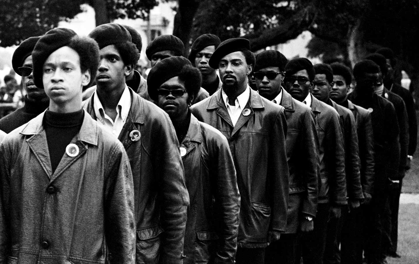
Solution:
<svg viewBox="0 0 419 264"><path fill-rule="evenodd" d="M116 23L97 26L90 32L89 37L96 40L99 49L117 43L132 42L131 34L129 34L128 30Z"/></svg>

